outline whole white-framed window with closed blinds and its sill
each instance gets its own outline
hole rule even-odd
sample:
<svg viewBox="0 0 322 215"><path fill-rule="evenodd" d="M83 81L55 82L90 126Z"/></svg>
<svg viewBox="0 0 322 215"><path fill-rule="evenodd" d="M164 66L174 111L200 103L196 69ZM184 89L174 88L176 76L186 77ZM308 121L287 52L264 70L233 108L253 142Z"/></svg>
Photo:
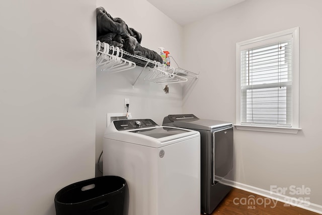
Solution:
<svg viewBox="0 0 322 215"><path fill-rule="evenodd" d="M298 28L236 44L236 128L297 133Z"/></svg>

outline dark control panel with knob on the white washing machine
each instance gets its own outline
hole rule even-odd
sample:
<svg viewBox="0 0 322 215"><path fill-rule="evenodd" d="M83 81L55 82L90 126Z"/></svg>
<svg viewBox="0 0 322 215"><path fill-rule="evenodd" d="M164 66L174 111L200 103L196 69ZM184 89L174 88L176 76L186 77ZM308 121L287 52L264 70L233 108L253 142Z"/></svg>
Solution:
<svg viewBox="0 0 322 215"><path fill-rule="evenodd" d="M159 126L151 119L126 119L113 121L117 130L130 130Z"/></svg>

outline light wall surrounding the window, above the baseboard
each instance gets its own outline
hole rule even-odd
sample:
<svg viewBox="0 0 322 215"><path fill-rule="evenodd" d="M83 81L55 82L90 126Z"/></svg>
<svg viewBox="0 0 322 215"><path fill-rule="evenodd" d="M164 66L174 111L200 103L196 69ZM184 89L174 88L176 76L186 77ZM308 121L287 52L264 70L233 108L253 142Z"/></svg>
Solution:
<svg viewBox="0 0 322 215"><path fill-rule="evenodd" d="M311 189L309 201L319 205L322 205L321 8L320 0L247 0L186 26L183 44L183 53L189 53L184 55L185 66L200 68L199 82L183 112L235 122L236 42L299 27L299 117L303 130L298 134L235 130L234 180L265 190L270 190L270 185L305 185ZM193 50L190 44L196 44Z"/></svg>

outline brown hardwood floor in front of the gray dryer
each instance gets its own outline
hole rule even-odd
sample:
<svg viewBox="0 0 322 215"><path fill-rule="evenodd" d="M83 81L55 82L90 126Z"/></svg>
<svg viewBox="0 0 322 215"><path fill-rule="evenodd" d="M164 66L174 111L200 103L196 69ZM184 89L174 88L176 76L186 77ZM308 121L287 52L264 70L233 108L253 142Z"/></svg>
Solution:
<svg viewBox="0 0 322 215"><path fill-rule="evenodd" d="M254 198L253 202L251 199ZM266 201L266 204L265 204ZM249 203L249 204L248 204ZM317 215L318 213L232 188L211 215Z"/></svg>

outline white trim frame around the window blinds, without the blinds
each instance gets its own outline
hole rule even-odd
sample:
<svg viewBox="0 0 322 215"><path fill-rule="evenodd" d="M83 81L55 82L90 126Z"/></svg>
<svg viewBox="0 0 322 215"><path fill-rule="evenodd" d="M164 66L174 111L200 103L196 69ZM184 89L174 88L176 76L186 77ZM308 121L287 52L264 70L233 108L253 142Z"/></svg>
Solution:
<svg viewBox="0 0 322 215"><path fill-rule="evenodd" d="M291 127L280 127L270 125L248 125L241 124L241 89L240 89L240 53L246 48L260 47L266 44L283 41L285 37L292 37L292 123ZM266 36L246 40L236 43L236 124L239 130L267 131L278 133L297 133L299 128L299 27L288 29L285 31L269 34Z"/></svg>

